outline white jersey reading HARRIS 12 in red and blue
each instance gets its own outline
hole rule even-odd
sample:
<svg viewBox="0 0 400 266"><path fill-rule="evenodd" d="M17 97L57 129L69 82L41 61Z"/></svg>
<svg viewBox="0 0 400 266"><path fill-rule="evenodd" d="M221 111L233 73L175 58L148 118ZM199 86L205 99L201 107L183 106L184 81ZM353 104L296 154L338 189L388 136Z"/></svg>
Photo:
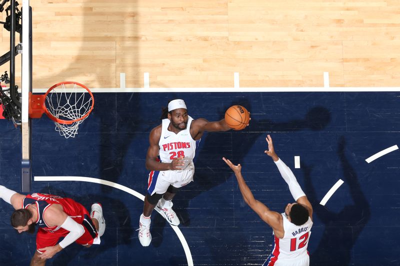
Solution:
<svg viewBox="0 0 400 266"><path fill-rule="evenodd" d="M284 213L281 215L283 217L284 236L282 239L274 236L275 246L270 256L268 266L274 265L275 261L293 261L295 259L300 259L303 256L308 256L307 246L311 234L311 219L308 217L305 224L296 226L287 220Z"/></svg>

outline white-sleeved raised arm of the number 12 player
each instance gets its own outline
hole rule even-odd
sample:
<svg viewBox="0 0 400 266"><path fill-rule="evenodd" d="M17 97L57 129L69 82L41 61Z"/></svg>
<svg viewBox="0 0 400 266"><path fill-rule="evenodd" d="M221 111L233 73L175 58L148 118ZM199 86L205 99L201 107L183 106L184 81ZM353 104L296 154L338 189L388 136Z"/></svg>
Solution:
<svg viewBox="0 0 400 266"><path fill-rule="evenodd" d="M305 193L302 191L293 172L276 155L275 149L273 148L273 142L272 142L271 136L267 135L265 140L268 143L268 150L264 151L264 153L266 153L268 156L270 156L272 158L273 162L276 164L276 167L278 168L280 175L282 176L283 180L289 186L289 190L290 190L291 196L293 196L293 199L298 204L303 205L308 210L309 217L312 218L311 203L308 201L307 197L305 196Z"/></svg>

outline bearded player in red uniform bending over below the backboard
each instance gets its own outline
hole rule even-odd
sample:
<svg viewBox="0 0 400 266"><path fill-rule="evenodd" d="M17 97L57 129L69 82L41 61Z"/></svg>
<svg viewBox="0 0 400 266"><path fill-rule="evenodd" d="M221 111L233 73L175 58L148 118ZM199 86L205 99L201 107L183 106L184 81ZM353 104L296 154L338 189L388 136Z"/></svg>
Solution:
<svg viewBox="0 0 400 266"><path fill-rule="evenodd" d="M4 186L0 186L0 198L15 209L11 226L18 233L33 234L35 226L39 227L31 266L45 265L47 259L73 242L87 248L100 244L105 221L99 203L91 205L89 214L81 204L69 198L40 193L25 196ZM60 238L64 239L58 242Z"/></svg>

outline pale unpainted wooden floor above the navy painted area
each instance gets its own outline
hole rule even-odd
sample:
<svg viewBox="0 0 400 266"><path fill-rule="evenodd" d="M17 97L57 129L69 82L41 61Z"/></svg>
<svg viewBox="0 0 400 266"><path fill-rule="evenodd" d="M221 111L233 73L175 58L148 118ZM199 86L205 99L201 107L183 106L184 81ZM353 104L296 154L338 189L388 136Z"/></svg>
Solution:
<svg viewBox="0 0 400 266"><path fill-rule="evenodd" d="M30 4L34 88L114 88L120 73L126 87L143 87L144 72L150 87L232 87L234 72L241 87L321 87L323 72L336 87L395 87L400 78L397 0ZM0 41L8 51L5 29Z"/></svg>

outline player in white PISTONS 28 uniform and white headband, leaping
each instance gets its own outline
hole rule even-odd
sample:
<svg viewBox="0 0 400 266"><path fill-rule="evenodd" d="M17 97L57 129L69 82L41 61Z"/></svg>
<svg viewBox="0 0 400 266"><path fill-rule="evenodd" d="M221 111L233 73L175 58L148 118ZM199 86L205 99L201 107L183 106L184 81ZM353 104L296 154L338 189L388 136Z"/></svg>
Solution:
<svg viewBox="0 0 400 266"><path fill-rule="evenodd" d="M187 115L186 105L181 99L170 101L161 119L162 123L150 132L146 155L146 168L151 172L138 229L143 247L151 242L150 216L154 207L169 224L179 225L171 200L180 187L193 181L193 158L204 131L230 129L225 119L215 122L204 118L192 119Z"/></svg>

